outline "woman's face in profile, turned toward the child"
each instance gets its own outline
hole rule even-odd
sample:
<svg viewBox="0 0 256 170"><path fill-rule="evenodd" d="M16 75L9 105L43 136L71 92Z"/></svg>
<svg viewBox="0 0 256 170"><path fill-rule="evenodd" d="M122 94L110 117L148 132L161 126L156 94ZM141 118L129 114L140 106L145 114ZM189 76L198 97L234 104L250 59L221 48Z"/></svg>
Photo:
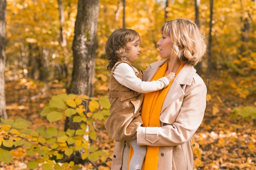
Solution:
<svg viewBox="0 0 256 170"><path fill-rule="evenodd" d="M159 53L161 58L170 58L170 49L171 49L171 38L170 36L167 36L166 34L162 34L162 38L157 42L157 45L159 46Z"/></svg>

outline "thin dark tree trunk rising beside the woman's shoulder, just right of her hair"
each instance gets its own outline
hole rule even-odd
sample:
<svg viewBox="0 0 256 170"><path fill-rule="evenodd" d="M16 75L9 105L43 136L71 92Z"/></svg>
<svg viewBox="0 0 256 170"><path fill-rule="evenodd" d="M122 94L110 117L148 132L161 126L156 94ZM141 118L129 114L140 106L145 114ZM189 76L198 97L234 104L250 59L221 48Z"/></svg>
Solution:
<svg viewBox="0 0 256 170"><path fill-rule="evenodd" d="M210 22L209 22L209 41L208 41L208 64L207 64L207 72L206 72L206 86L209 87L209 81L210 81L210 73L211 73L211 46L212 46L212 36L211 36L211 30L212 30L212 21L213 21L213 0L210 0Z"/></svg>

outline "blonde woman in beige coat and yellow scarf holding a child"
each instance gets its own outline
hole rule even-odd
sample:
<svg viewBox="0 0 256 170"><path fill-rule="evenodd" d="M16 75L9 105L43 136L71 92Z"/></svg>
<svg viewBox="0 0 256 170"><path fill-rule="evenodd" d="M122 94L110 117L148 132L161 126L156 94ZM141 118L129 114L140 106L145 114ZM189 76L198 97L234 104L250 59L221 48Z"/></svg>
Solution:
<svg viewBox="0 0 256 170"><path fill-rule="evenodd" d="M194 65L206 52L204 35L191 20L165 22L157 42L162 61L144 71L153 81L174 72L175 79L163 90L144 94L142 127L131 139L147 146L143 170L193 170L191 137L199 128L206 108L207 88ZM132 156L128 142L117 142L111 170L127 170Z"/></svg>

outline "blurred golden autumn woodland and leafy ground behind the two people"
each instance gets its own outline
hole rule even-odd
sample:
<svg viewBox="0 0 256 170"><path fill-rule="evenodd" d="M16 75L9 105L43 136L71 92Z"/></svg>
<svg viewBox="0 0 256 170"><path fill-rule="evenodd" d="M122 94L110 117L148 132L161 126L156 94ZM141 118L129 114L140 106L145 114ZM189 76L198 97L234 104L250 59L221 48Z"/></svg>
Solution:
<svg viewBox="0 0 256 170"><path fill-rule="evenodd" d="M72 39L76 17L76 0L63 0L67 38L59 44L58 4L54 0L7 0L6 105L9 119L31 121L31 128L54 126L63 129L64 120L52 124L40 116L52 96L66 92L72 71ZM209 0L201 0L200 30L209 40ZM108 94L109 72L104 59L104 46L115 29L122 28L123 6L120 0L101 0L98 17L98 49L94 95ZM126 1L126 28L141 35L141 55L134 64L144 70L149 63L161 60L156 42L160 27L167 19L180 17L194 20L194 0ZM247 29L245 29L247 28ZM196 170L256 170L256 119L231 115L234 108L255 108L256 97L256 2L252 0L214 1L211 59L202 60L202 78L208 84L207 109L202 125L193 136L194 168ZM38 79L36 58L43 56L45 78ZM63 74L63 66L67 72ZM31 74L33 73L33 74ZM95 164L99 170L110 170L115 142L108 137L104 122L98 121L97 140L93 145L109 157ZM24 154L24 148L13 150L11 163L0 163L0 170L20 170L25 163L36 160ZM79 165L92 170L91 163Z"/></svg>

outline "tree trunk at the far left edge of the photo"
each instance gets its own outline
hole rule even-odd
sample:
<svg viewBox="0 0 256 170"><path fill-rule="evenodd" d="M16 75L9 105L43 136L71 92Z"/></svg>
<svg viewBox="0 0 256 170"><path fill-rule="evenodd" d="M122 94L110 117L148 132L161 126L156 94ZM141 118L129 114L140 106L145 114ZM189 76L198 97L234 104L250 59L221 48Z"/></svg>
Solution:
<svg viewBox="0 0 256 170"><path fill-rule="evenodd" d="M6 0L0 0L0 118L7 119L6 101L4 93L4 68L6 44Z"/></svg>

